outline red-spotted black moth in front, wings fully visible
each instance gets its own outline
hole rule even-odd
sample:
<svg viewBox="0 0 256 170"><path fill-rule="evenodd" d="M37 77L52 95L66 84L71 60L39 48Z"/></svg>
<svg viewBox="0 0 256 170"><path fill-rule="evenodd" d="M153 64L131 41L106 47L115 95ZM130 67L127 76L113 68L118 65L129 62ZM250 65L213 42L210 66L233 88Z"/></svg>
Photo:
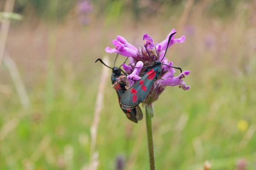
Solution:
<svg viewBox="0 0 256 170"><path fill-rule="evenodd" d="M166 51L168 49L171 38L174 34L176 34L176 32L171 34L170 37L169 37L168 44L167 44L167 47L166 47ZM148 53L148 50L147 50L146 46L145 46L145 49ZM166 55L166 51L165 51L165 54L164 54L163 58ZM144 75L141 77L141 79L139 79L137 82L135 82L134 85L132 85L121 96L120 104L122 105L122 108L124 108L124 109L135 108L141 102L145 101L145 99L148 96L148 93L149 93L154 81L157 80L157 78L161 74L161 65L166 65L166 64L161 63L163 58L161 59L161 61L155 61L150 56L149 53L148 53L148 55L153 60L153 62L151 63L151 65L143 67L146 70L144 71ZM174 66L170 66L170 65L167 65L167 66L179 69L180 72L182 72L181 68L179 68L179 67L174 67Z"/></svg>

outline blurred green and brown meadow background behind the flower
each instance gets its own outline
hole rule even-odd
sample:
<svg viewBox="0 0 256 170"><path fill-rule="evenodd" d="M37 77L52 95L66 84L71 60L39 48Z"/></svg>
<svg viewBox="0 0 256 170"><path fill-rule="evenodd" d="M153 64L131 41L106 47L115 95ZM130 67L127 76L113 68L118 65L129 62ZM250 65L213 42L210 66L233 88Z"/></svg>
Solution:
<svg viewBox="0 0 256 170"><path fill-rule="evenodd" d="M116 35L139 47L172 28L186 41L167 58L191 70L191 89L154 103L157 169L256 169L255 0L1 0L0 11L1 170L148 169L145 119L122 113L110 72L96 105L94 61L113 64Z"/></svg>

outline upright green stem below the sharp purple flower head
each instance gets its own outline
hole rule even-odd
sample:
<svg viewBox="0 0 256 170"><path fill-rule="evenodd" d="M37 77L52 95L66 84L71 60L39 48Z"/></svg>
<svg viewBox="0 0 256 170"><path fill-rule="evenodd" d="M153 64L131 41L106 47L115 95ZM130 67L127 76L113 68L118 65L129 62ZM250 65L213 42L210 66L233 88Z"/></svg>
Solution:
<svg viewBox="0 0 256 170"><path fill-rule="evenodd" d="M154 144L153 144L153 133L152 133L152 122L151 118L154 116L154 111L151 103L145 105L146 115L146 126L147 126L147 139L148 139L148 158L150 170L155 170L154 161Z"/></svg>

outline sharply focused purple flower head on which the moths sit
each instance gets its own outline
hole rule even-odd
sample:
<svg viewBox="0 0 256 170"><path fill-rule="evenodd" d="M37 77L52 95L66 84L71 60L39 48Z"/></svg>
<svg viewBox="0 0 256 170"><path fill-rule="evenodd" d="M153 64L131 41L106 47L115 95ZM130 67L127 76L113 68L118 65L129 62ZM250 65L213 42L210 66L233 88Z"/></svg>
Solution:
<svg viewBox="0 0 256 170"><path fill-rule="evenodd" d="M117 53L129 57L129 64L122 65L125 72L128 74L126 82L128 87L131 87L137 80L141 78L145 71L145 68L142 68L143 66L145 67L151 65L154 60L161 61L163 59L161 63L166 65L161 65L161 74L152 85L152 88L150 89L150 92L145 102L154 102L155 100L157 100L166 86L178 86L185 91L188 91L190 89L190 86L186 85L186 83L183 81L183 78L189 75L190 71L183 71L175 77L175 69L169 67L173 66L173 63L169 62L166 57L163 58L167 48L169 36L174 32L176 32L175 29L172 29L172 31L168 34L165 40L156 44L154 44L151 36L149 36L148 34L144 34L144 44L139 48L135 48L123 37L117 36L116 40L113 40L113 44L116 48L111 49L107 47L105 49L105 51L108 53ZM182 43L185 40L186 38L184 36L177 39L172 36L168 48L176 42ZM148 52L146 51L145 47L147 48ZM148 53L154 60L149 57Z"/></svg>

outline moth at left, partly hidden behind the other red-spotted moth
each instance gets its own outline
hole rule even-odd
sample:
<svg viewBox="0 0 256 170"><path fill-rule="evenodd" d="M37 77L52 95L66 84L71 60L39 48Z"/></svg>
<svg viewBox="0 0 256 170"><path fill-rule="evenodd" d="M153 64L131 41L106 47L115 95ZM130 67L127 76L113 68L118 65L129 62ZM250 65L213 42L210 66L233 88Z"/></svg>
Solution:
<svg viewBox="0 0 256 170"><path fill-rule="evenodd" d="M118 54L116 55L116 59L118 57ZM113 88L116 90L116 93L117 93L117 96L118 96L118 101L119 101L119 105L121 107L121 104L120 104L120 97L122 96L122 94L125 93L126 89L125 89L125 82L118 82L117 81L117 78L121 77L121 76L125 76L126 77L126 74L124 71L122 71L122 69L119 67L115 67L115 63L116 63L116 59L114 61L114 67L111 68L109 67L108 65L106 65L102 59L96 59L95 62L97 61L100 61L103 65L105 65L106 67L108 68L111 68L112 69L112 75L111 75L111 82L112 82L112 85L113 85ZM128 58L127 58L128 59ZM126 59L126 60L127 60ZM125 62L126 62L125 60ZM124 63L125 63L124 62ZM123 72L123 74L121 73ZM122 111L125 113L125 115L127 116L127 118L129 120L131 120L132 122L135 122L137 123L138 120L141 120L143 118L143 114L142 114L142 111L140 109L140 106L137 105L137 107L134 107L132 109L123 109L121 107Z"/></svg>

